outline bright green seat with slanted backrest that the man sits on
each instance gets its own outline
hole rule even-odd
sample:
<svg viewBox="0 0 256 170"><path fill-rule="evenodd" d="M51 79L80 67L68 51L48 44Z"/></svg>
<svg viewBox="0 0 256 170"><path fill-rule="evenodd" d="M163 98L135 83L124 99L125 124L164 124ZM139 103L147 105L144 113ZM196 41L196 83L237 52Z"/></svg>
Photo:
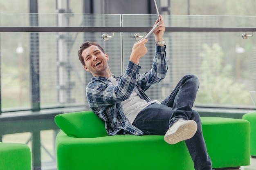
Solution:
<svg viewBox="0 0 256 170"><path fill-rule="evenodd" d="M169 145L163 136L108 136L92 111L55 117L58 170L193 170L185 142ZM65 132L65 133L64 133Z"/></svg>

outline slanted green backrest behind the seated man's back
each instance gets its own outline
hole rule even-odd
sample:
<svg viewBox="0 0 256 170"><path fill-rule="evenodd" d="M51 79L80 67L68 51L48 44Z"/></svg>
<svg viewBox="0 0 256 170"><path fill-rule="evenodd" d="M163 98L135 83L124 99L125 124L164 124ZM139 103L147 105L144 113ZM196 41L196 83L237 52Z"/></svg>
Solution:
<svg viewBox="0 0 256 170"><path fill-rule="evenodd" d="M70 137L93 138L108 136L105 123L92 111L56 115L55 123Z"/></svg>

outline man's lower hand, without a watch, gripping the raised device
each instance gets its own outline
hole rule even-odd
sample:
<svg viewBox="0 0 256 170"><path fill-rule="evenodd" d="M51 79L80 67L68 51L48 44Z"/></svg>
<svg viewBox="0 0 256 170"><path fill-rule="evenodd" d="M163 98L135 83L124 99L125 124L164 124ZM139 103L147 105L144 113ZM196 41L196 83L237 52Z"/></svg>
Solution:
<svg viewBox="0 0 256 170"><path fill-rule="evenodd" d="M148 52L146 42L148 42L148 39L141 39L134 43L132 47L132 53L130 55L131 62L139 64L139 59Z"/></svg>

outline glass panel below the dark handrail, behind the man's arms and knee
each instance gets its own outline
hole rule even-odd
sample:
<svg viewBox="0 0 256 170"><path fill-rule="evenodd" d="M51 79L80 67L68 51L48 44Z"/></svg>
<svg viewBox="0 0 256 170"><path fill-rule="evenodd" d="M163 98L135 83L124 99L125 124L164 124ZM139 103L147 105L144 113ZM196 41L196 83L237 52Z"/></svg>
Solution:
<svg viewBox="0 0 256 170"><path fill-rule="evenodd" d="M133 43L132 33L124 33L124 69ZM151 35L153 36L153 35ZM240 33L165 33L168 73L166 78L146 93L162 101L171 94L186 74L200 79L195 105L246 106L254 108L249 91L256 91L255 39L244 40ZM155 45L152 37L148 53L141 58L140 73L151 68Z"/></svg>

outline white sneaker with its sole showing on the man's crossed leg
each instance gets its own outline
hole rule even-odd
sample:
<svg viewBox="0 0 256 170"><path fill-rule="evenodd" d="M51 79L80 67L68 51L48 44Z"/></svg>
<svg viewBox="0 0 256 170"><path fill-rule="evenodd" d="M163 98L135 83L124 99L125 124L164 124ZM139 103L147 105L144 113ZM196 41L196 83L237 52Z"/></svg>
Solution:
<svg viewBox="0 0 256 170"><path fill-rule="evenodd" d="M164 135L164 141L168 144L176 144L180 141L190 139L195 135L198 125L193 120L179 119Z"/></svg>

